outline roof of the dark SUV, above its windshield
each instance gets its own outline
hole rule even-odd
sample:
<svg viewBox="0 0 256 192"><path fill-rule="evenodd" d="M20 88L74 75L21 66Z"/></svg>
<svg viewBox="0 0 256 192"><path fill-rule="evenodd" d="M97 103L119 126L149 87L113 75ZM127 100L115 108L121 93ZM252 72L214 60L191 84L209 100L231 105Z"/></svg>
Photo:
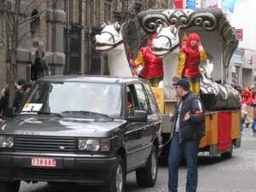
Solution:
<svg viewBox="0 0 256 192"><path fill-rule="evenodd" d="M113 77L108 75L55 75L46 76L38 79L37 82L90 82L90 83L112 83L112 84L125 84L125 83L146 83L147 81L139 78L123 78Z"/></svg>

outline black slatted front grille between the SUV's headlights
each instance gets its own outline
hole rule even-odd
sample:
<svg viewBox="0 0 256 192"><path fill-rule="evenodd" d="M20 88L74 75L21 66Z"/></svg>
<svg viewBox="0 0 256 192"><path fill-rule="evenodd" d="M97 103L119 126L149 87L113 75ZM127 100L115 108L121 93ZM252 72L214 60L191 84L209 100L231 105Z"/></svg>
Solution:
<svg viewBox="0 0 256 192"><path fill-rule="evenodd" d="M74 137L16 137L17 152L75 153Z"/></svg>

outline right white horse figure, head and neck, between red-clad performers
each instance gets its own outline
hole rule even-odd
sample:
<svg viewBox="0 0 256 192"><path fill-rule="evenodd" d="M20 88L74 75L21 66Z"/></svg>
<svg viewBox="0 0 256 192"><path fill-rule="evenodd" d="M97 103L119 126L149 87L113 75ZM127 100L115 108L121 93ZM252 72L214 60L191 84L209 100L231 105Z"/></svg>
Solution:
<svg viewBox="0 0 256 192"><path fill-rule="evenodd" d="M178 28L179 29L179 28ZM153 54L163 59L163 82L165 99L176 100L176 91L172 85L172 78L177 74L179 38L175 26L161 25L157 29L157 38L152 41Z"/></svg>

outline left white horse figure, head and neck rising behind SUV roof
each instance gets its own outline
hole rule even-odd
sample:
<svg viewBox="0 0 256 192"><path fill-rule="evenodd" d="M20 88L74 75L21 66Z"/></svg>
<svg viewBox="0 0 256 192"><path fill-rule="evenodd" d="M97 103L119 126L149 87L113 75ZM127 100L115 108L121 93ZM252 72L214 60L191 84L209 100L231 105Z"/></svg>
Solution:
<svg viewBox="0 0 256 192"><path fill-rule="evenodd" d="M108 55L108 67L111 76L133 77L124 44L124 27L118 22L102 24L102 32L96 35L96 50Z"/></svg>

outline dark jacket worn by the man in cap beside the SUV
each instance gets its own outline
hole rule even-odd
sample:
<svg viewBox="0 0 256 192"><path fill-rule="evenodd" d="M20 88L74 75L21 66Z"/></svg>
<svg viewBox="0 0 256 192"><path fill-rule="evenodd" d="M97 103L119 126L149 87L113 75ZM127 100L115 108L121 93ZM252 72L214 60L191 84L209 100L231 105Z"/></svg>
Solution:
<svg viewBox="0 0 256 192"><path fill-rule="evenodd" d="M201 137L205 136L206 134L205 109L203 103L198 96L195 96L195 94L192 93L191 90L189 90L187 94L182 97L181 101L183 101L183 103L179 118L179 137L181 141L190 139L200 140ZM175 131L177 108L174 116L172 116L172 126L174 126L172 127L172 131ZM189 120L183 120L185 114L188 112L190 112Z"/></svg>

